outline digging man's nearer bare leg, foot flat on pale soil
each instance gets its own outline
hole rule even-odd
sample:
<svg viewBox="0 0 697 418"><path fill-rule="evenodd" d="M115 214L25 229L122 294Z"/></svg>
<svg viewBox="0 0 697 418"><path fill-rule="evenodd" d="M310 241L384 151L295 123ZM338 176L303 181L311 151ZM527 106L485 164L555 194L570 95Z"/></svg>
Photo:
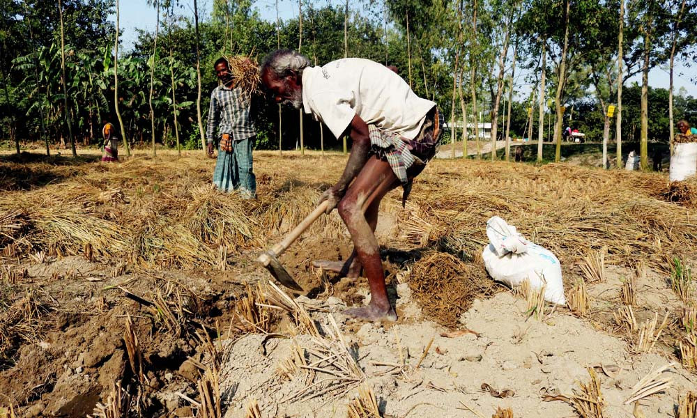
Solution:
<svg viewBox="0 0 697 418"><path fill-rule="evenodd" d="M367 306L347 309L344 313L349 316L367 320L397 320L395 309L392 309L388 300L380 247L373 233L374 226L368 222L366 212L371 206L378 207L383 196L398 184L390 164L372 157L339 202L339 215L351 233L356 256L368 279L371 296Z"/></svg>

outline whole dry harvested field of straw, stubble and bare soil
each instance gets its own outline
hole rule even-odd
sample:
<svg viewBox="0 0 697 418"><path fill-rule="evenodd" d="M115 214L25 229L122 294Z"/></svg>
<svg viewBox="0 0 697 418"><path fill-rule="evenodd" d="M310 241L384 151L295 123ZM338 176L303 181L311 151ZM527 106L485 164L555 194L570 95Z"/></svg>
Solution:
<svg viewBox="0 0 697 418"><path fill-rule="evenodd" d="M254 263L342 155L256 153L256 201L201 153L95 160L0 156L0 418L695 417L697 210L664 175L435 160L383 201L399 320L366 324L365 279L311 267L351 251L336 212L281 258L305 294ZM487 276L493 215L569 306Z"/></svg>

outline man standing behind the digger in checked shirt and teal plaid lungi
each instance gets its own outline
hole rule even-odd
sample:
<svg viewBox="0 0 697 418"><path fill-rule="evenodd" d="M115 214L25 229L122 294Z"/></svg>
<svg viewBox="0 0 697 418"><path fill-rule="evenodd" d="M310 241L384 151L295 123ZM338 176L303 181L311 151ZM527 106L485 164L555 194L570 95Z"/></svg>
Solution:
<svg viewBox="0 0 697 418"><path fill-rule="evenodd" d="M213 140L220 141L213 184L222 192L238 190L243 199L254 199L256 177L252 171L252 149L256 130L252 119L252 95L235 85L227 59L218 59L214 67L222 84L210 93L206 125L209 157L213 157Z"/></svg>

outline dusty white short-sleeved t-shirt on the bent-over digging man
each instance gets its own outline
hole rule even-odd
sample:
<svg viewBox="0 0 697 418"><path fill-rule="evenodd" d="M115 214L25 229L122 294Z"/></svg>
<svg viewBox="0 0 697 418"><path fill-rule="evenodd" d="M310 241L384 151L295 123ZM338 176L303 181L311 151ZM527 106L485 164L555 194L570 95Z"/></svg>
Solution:
<svg viewBox="0 0 697 418"><path fill-rule="evenodd" d="M339 138L360 116L368 125L414 139L436 103L418 97L397 73L360 58L332 61L302 71L305 113L323 121Z"/></svg>

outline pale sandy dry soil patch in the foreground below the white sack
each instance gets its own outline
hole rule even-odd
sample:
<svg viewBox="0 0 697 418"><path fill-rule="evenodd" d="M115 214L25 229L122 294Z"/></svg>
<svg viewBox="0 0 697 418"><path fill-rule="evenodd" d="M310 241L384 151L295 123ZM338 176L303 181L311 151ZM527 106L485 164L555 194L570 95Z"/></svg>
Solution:
<svg viewBox="0 0 697 418"><path fill-rule="evenodd" d="M632 355L625 341L595 330L566 309L552 312L542 321L527 318L526 302L510 292L477 300L462 316L462 325L478 335L447 338L441 336L447 332L443 327L420 319L420 309L411 301L406 284L397 291L403 316L396 325L347 320L340 314L344 304L333 298L328 301L328 313L313 315L325 332L330 330L328 315L337 318L385 417L477 416L465 405L487 417L498 407L512 408L516 417L573 417L569 404L544 402L543 396L572 396L579 382L589 380L589 367L600 376L606 416L632 417L634 405L624 404L631 388L650 371L671 362L657 354ZM358 330L352 332L355 328ZM416 369L431 338L431 348ZM338 396L316 396L334 376L318 372L307 378L298 371L289 380L277 373L277 365L289 357L293 344L312 352L316 348L312 338L299 335L263 341L264 336L249 335L227 344L227 361L221 371L221 389L228 405L225 417L245 417L244 408L251 398L259 401L265 417L346 416L346 404L356 389L342 387L336 391ZM376 364L401 364L400 347L403 367ZM308 358L314 356L308 354ZM692 377L680 366L664 376L673 380L673 387L640 402L646 417L673 417L677 394L695 389ZM313 390L302 394L317 382ZM484 384L514 394L496 398L482 390Z"/></svg>

